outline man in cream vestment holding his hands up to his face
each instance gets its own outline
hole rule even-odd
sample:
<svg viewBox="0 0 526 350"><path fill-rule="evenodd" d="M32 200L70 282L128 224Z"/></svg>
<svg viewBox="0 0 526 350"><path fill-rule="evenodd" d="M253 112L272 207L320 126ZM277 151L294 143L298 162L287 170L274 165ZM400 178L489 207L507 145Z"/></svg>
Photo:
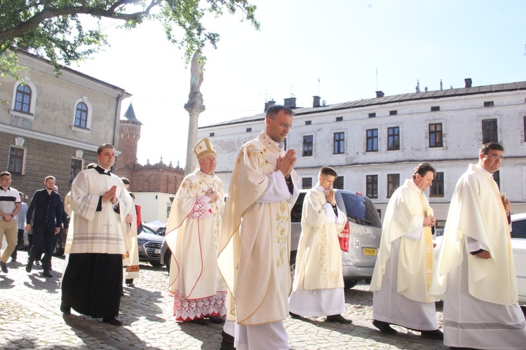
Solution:
<svg viewBox="0 0 526 350"><path fill-rule="evenodd" d="M345 312L342 253L338 234L347 218L336 205L332 185L335 169L321 167L318 183L306 193L302 209L296 269L289 297L289 314L327 316L326 321L352 323Z"/></svg>

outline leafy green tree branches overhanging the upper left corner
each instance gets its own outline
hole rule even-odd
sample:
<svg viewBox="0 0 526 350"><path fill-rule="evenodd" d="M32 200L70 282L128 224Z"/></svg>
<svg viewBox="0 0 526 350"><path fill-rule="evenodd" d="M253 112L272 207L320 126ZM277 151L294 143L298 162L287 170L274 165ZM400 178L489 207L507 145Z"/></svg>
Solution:
<svg viewBox="0 0 526 350"><path fill-rule="evenodd" d="M203 26L206 13L219 18L240 11L242 20L259 29L255 8L248 0L0 0L0 71L11 72L13 55L6 52L17 48L46 57L57 68L89 57L108 44L105 19L128 29L161 22L188 61L206 43L215 48L219 41L219 34ZM93 28L86 25L88 17Z"/></svg>

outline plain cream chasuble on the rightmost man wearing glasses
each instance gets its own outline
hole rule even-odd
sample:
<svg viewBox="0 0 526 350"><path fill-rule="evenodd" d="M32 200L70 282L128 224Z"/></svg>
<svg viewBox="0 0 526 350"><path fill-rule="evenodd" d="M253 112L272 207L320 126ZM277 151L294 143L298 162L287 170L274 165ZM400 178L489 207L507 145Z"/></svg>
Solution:
<svg viewBox="0 0 526 350"><path fill-rule="evenodd" d="M516 304L517 277L506 211L497 183L479 165L469 165L454 189L433 273L433 295L445 293L447 273L462 262L469 239L484 244L491 255L481 259L466 254L469 293L486 302Z"/></svg>

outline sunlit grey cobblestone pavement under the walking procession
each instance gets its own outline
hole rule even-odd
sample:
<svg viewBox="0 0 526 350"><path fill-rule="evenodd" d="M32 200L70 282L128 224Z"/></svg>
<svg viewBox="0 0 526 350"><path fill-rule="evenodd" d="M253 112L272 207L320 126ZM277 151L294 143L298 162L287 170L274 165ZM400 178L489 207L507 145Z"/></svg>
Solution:
<svg viewBox="0 0 526 350"><path fill-rule="evenodd" d="M141 277L125 287L116 327L102 320L76 314L63 316L60 276L64 258L53 257L53 278L42 276L35 265L25 272L27 253L8 262L8 274L0 273L1 349L219 349L222 325L177 323L172 316L173 298L166 292L165 267L141 264ZM346 291L347 318L353 325L287 318L285 327L291 349L447 349L438 340L423 339L419 332L394 327L398 335L383 335L371 323L372 293L358 285ZM437 307L442 325L442 308ZM269 349L271 350L271 349Z"/></svg>

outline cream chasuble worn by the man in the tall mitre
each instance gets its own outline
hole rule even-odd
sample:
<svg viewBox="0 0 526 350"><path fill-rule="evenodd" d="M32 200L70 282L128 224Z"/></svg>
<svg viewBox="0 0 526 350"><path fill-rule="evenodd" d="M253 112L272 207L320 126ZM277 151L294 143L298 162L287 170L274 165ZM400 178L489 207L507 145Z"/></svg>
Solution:
<svg viewBox="0 0 526 350"><path fill-rule="evenodd" d="M219 199L207 201L207 205L198 197L206 197L205 193L209 190L217 193ZM175 194L166 227L165 239L172 251L168 282L170 295L180 293L180 283L184 285L187 300L212 297L218 292L226 293L227 287L217 269L223 198L223 183L215 175L209 176L196 169L183 179ZM192 212L198 214L191 217ZM208 214L203 216L205 212Z"/></svg>

